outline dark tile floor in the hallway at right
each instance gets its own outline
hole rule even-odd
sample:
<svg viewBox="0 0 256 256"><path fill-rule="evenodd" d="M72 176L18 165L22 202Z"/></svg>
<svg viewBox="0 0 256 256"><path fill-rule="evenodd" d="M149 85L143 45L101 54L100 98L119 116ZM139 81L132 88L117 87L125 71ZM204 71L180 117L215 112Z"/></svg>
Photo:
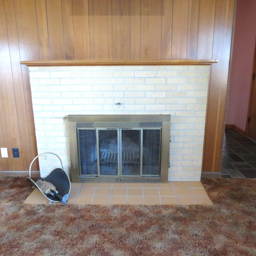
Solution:
<svg viewBox="0 0 256 256"><path fill-rule="evenodd" d="M222 178L256 178L256 142L232 129L225 130Z"/></svg>

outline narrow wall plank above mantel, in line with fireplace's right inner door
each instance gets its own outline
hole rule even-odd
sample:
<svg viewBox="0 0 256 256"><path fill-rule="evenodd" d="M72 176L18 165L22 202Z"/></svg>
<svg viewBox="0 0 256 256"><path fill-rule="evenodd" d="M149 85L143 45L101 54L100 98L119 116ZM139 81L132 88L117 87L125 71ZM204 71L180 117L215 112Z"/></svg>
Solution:
<svg viewBox="0 0 256 256"><path fill-rule="evenodd" d="M131 2L131 60L141 59L141 0Z"/></svg>

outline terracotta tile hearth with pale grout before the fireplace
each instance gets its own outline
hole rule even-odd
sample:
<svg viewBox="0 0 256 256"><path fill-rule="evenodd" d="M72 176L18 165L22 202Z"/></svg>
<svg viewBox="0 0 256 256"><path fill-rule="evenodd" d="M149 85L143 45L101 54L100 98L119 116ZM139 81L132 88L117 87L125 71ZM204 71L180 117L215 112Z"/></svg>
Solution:
<svg viewBox="0 0 256 256"><path fill-rule="evenodd" d="M47 202L48 200L36 188L24 201L25 204L47 204ZM68 204L211 205L212 202L201 182L176 181L143 184L71 183Z"/></svg>

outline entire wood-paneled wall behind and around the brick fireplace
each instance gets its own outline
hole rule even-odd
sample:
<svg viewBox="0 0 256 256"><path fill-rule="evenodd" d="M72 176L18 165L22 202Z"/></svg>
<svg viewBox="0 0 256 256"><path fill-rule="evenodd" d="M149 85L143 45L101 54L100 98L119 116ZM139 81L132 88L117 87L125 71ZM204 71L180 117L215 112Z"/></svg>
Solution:
<svg viewBox="0 0 256 256"><path fill-rule="evenodd" d="M0 0L0 147L9 154L0 170L28 170L37 155L28 67L20 60L218 59L203 171L219 172L234 1Z"/></svg>

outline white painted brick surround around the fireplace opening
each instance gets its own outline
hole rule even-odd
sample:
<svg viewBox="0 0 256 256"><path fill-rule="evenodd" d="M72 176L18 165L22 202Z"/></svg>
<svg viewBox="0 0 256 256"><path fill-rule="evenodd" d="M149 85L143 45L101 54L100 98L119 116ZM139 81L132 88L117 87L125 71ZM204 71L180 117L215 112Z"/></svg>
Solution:
<svg viewBox="0 0 256 256"><path fill-rule="evenodd" d="M168 180L199 181L209 70L210 65L29 67L38 154L58 154L70 174L69 114L170 114ZM39 165L44 177L59 162L43 155Z"/></svg>

